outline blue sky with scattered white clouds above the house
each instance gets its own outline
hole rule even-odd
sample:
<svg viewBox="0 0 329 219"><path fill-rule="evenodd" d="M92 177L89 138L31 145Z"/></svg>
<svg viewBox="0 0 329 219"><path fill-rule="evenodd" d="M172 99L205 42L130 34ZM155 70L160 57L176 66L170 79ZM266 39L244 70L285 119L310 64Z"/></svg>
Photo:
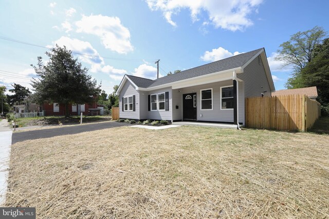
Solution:
<svg viewBox="0 0 329 219"><path fill-rule="evenodd" d="M158 59L165 76L264 47L281 90L293 70L275 61L280 44L315 26L328 31L328 8L317 0L0 0L0 84L32 89L30 65L38 56L46 63L56 44L107 94L124 74L155 79Z"/></svg>

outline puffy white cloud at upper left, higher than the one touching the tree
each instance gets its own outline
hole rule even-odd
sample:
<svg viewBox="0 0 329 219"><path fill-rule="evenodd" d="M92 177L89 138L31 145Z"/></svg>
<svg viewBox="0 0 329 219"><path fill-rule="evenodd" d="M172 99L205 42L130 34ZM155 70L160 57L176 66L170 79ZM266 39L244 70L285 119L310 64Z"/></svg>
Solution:
<svg viewBox="0 0 329 219"><path fill-rule="evenodd" d="M133 51L130 42L130 32L128 28L121 24L118 17L99 15L83 15L81 20L76 22L77 32L97 35L101 38L106 49L111 49L118 53Z"/></svg>

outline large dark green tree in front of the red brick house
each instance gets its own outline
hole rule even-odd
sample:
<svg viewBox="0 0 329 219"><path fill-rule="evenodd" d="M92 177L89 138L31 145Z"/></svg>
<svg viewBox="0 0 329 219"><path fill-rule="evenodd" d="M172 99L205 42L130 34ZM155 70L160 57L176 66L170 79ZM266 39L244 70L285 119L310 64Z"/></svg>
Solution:
<svg viewBox="0 0 329 219"><path fill-rule="evenodd" d="M96 79L88 75L88 69L72 56L72 52L56 47L46 52L49 61L46 65L38 57L38 65L31 65L40 76L32 80L32 101L42 104L59 103L65 105L65 115L69 116L69 104L92 103L94 96L100 93Z"/></svg>

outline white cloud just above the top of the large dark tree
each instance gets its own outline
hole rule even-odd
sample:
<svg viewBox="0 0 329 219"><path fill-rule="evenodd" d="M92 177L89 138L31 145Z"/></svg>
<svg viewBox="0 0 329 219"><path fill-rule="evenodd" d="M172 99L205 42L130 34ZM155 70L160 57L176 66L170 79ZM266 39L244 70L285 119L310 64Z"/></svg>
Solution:
<svg viewBox="0 0 329 219"><path fill-rule="evenodd" d="M52 42L54 45L59 45L60 47L66 46L67 49L72 50L73 52L77 52L80 54L79 58L82 62L94 65L94 64L102 64L104 65L104 59L101 57L97 50L93 48L93 46L89 42L80 41L76 38L70 38L67 36L62 36L57 41ZM51 48L53 46L47 46Z"/></svg>

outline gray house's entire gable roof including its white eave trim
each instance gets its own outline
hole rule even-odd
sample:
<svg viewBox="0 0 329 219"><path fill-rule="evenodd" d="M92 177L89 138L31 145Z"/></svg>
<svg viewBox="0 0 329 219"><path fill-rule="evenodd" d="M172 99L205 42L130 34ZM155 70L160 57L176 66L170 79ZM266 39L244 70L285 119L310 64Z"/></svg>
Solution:
<svg viewBox="0 0 329 219"><path fill-rule="evenodd" d="M219 61L216 62L212 62L209 64L205 64L202 66L198 66L195 68L191 68L185 71L181 71L175 74L171 74L171 75L167 75L164 77L160 77L158 79L155 80L151 80L148 78L142 78L142 77L137 77L137 76L133 76L133 75L125 75L119 85L119 89L118 92L120 92L121 90L121 85L123 83L125 83L126 79L129 79L129 81L136 86L136 89L139 88L143 88L143 89L147 89L147 88L154 88L157 86L161 86L161 85L166 85L166 84L171 84L171 83L175 83L175 82L179 82L179 81L183 81L186 79L190 79L190 78L196 78L199 76L204 76L204 75L208 75L208 74L212 74L212 73L217 73L217 72L223 72L226 70L235 70L237 68L244 68L247 64L249 64L255 57L257 57L257 55L262 54L262 59L265 58L265 60L263 60L263 63L265 64L265 72L267 75L267 78L269 80L269 84L270 86L273 88L272 90L275 90L274 88L274 84L272 81L272 77L270 75L270 70L268 67L268 63L267 63L267 58L266 58L266 54L265 54L265 50L264 48L260 48L257 50L253 50L250 52L246 52L246 53L242 53L239 55L234 55L228 58L224 58L221 59Z"/></svg>

